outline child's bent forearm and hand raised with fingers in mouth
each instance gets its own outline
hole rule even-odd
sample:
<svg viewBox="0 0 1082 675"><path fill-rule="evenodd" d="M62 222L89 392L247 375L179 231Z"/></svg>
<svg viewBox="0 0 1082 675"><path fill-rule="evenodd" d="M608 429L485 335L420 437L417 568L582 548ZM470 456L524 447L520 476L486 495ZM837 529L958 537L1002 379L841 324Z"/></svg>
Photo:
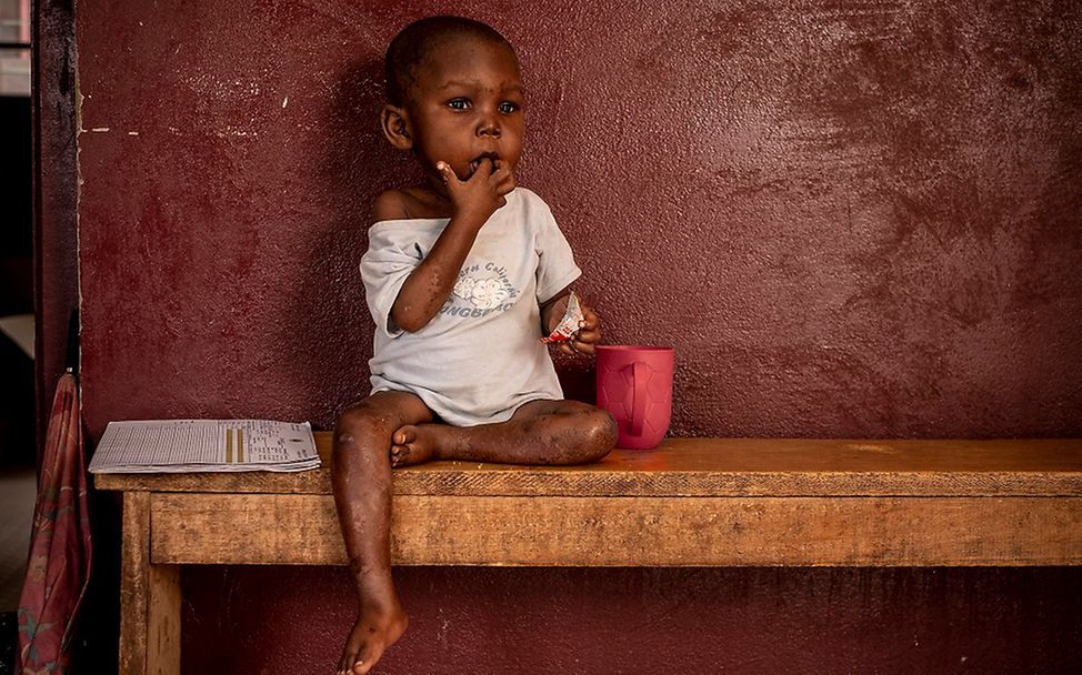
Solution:
<svg viewBox="0 0 1082 675"><path fill-rule="evenodd" d="M445 162L437 168L443 173L451 200L451 220L424 260L410 272L391 306L391 319L411 333L428 325L447 302L478 232L507 203L503 195L514 190L511 169L499 160L481 160L467 181L460 181Z"/></svg>

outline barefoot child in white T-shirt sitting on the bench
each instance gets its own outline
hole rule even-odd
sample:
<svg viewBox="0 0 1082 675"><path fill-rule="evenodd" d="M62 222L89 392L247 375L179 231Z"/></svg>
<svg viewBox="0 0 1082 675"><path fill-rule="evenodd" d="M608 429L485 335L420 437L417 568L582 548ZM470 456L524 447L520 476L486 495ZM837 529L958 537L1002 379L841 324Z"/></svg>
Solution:
<svg viewBox="0 0 1082 675"><path fill-rule="evenodd" d="M375 320L372 394L334 430L333 483L360 608L339 673L368 673L405 631L391 580L391 467L429 460L577 464L615 444L612 417L564 401L548 347L580 270L548 206L515 187L523 88L510 43L453 17L387 52L380 121L424 171L374 205L361 276ZM560 349L592 354L582 308Z"/></svg>

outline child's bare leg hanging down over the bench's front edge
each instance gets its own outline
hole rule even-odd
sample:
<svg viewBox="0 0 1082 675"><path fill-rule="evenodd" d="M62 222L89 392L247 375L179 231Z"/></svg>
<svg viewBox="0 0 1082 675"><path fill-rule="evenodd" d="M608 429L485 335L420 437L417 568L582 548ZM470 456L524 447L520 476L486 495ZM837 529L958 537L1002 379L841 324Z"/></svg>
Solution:
<svg viewBox="0 0 1082 675"><path fill-rule="evenodd" d="M339 659L340 674L368 673L409 623L391 580L389 451L395 430L431 420L431 411L413 394L380 392L347 410L335 424L334 503L360 604Z"/></svg>

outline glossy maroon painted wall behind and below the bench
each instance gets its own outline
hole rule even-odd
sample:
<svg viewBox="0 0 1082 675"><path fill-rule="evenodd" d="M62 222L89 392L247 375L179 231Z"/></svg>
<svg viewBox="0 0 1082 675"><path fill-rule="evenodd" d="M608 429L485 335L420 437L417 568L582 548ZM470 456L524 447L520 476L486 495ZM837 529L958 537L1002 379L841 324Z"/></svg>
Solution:
<svg viewBox="0 0 1082 675"><path fill-rule="evenodd" d="M673 344L675 435L1082 434L1076 3L77 7L84 414L325 427L367 392L380 58L518 46L521 183L609 341ZM589 397L588 366L562 364ZM384 673L1070 672L1078 571L400 570ZM329 672L338 570L187 574L188 673Z"/></svg>

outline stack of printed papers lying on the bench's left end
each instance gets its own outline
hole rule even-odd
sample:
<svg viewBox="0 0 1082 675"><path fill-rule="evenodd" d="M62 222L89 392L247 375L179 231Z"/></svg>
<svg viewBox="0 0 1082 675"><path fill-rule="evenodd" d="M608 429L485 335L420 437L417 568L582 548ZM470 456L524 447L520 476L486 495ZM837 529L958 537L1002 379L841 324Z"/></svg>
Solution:
<svg viewBox="0 0 1082 675"><path fill-rule="evenodd" d="M319 466L308 422L152 420L110 422L91 473L304 471Z"/></svg>

